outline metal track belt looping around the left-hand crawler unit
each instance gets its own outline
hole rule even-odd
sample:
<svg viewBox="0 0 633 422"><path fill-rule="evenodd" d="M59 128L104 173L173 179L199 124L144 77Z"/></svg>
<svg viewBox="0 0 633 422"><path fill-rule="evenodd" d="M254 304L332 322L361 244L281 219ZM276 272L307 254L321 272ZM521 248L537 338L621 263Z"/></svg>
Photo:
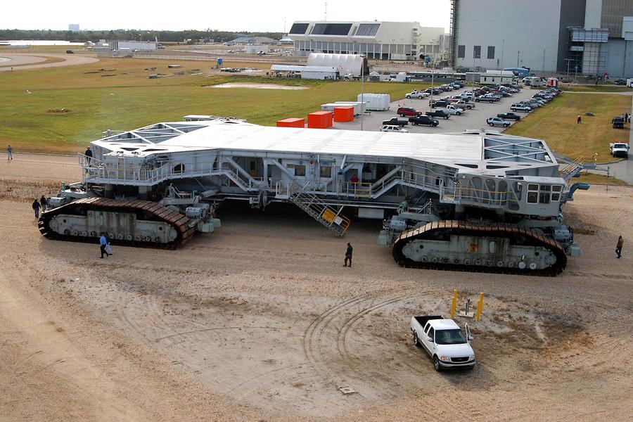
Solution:
<svg viewBox="0 0 633 422"><path fill-rule="evenodd" d="M117 211L117 212L136 212L141 210L153 215L156 220L167 222L174 226L178 232L178 236L174 241L169 243L156 243L152 241L136 241L127 239L111 238L113 245L134 246L143 248L160 248L160 249L177 249L184 245L196 232L196 226L191 219L182 215L180 212L174 211L159 203L147 200L115 200L108 198L81 198L62 205L52 210L43 212L39 217L38 228L42 236L58 241L72 241L84 243L98 243L96 236L72 236L71 234L59 234L51 230L49 222L53 217L65 212L74 210L76 207L82 207L84 210L91 211Z"/></svg>

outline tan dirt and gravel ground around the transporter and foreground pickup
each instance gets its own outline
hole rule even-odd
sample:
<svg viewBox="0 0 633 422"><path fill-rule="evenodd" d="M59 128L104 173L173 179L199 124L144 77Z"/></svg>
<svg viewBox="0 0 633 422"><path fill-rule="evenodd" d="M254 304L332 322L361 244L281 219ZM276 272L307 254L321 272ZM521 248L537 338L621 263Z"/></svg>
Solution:
<svg viewBox="0 0 633 422"><path fill-rule="evenodd" d="M334 238L289 207L224 207L181 250L100 260L42 238L30 208L79 179L76 159L14 157L0 160L0 420L632 420L633 188L565 206L582 257L557 278L402 269L378 222ZM409 319L447 314L454 288L459 307L485 293L482 321L459 320L478 365L436 373Z"/></svg>

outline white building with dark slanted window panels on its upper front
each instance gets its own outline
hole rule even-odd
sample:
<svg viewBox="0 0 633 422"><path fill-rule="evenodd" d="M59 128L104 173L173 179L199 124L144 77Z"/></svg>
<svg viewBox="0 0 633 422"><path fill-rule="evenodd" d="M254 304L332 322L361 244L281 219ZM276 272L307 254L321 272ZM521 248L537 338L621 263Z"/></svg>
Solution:
<svg viewBox="0 0 633 422"><path fill-rule="evenodd" d="M364 54L370 59L419 60L426 46L437 44L445 29L421 27L416 22L313 22L293 23L288 37L296 54ZM433 48L432 48L433 49Z"/></svg>

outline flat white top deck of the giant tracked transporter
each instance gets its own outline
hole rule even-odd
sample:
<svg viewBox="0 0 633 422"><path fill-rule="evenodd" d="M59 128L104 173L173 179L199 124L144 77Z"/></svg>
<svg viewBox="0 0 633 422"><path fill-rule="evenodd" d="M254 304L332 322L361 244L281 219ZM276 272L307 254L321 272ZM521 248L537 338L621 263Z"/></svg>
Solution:
<svg viewBox="0 0 633 422"><path fill-rule="evenodd" d="M396 134L267 127L229 119L158 123L92 144L136 156L222 149L402 158L489 174L558 164L544 141L499 132Z"/></svg>

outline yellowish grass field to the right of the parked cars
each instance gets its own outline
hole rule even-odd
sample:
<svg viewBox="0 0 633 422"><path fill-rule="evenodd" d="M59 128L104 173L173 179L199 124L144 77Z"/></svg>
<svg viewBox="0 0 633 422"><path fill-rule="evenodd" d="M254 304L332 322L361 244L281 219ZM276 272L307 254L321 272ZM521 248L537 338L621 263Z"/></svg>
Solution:
<svg viewBox="0 0 633 422"><path fill-rule="evenodd" d="M586 161L607 162L613 160L609 143L628 141L630 130L629 124L613 129L611 119L631 113L632 100L619 94L562 94L505 133L544 139L553 151L573 159L582 155ZM586 112L594 115L586 116ZM576 123L577 115L582 116L581 124Z"/></svg>

